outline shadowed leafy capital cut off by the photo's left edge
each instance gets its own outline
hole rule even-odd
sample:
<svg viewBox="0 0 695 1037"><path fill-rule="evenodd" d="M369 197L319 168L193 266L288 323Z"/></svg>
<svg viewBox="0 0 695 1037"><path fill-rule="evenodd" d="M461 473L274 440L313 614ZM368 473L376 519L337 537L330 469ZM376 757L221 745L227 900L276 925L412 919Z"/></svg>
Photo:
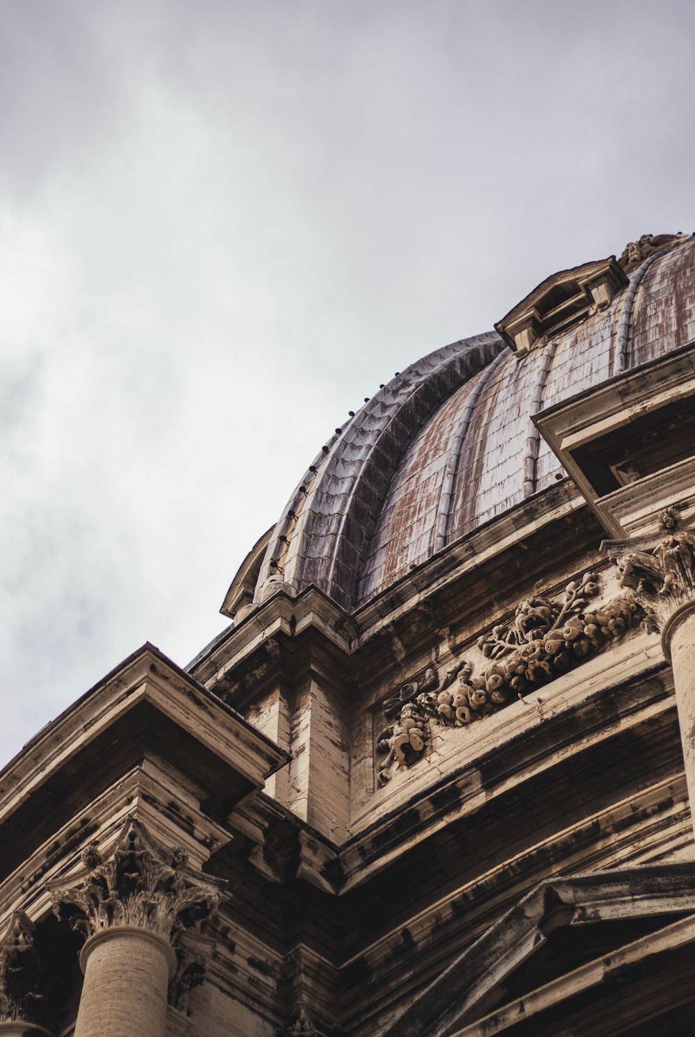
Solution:
<svg viewBox="0 0 695 1037"><path fill-rule="evenodd" d="M0 942L0 1024L26 1022L43 1028L52 1014L54 983L34 947L34 926L13 912Z"/></svg>

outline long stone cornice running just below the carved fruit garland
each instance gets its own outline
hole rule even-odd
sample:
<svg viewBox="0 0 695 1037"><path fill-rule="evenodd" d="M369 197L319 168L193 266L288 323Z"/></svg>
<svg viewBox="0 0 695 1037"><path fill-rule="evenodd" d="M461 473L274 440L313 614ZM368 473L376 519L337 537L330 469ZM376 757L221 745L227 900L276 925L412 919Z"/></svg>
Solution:
<svg viewBox="0 0 695 1037"><path fill-rule="evenodd" d="M445 758L440 753L436 760L425 757L418 764L420 772L409 769L405 778L408 800L398 796L397 805L385 813L389 796L395 794L389 785L352 818L355 835L340 847L343 892L388 867L402 856L405 846L413 848L457 817L472 816L491 798L507 792L521 794L524 783L564 765L563 761L587 747L609 740L620 728L640 725L647 716L656 723L664 710L675 708L672 695L659 692L651 701L654 693L646 690L646 701L640 705L633 698L640 683L661 674L668 682L670 670L659 641L652 635L636 634L524 702L488 718L474 733L466 732L466 750L460 748ZM631 689L624 699L623 689ZM576 727L578 714L583 719L581 734ZM463 766L456 763L462 755L466 758Z"/></svg>

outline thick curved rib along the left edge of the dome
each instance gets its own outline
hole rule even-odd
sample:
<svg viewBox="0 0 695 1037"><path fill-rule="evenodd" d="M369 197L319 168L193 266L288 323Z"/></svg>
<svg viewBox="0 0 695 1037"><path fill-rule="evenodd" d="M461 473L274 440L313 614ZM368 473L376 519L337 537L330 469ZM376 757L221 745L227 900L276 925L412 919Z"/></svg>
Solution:
<svg viewBox="0 0 695 1037"><path fill-rule="evenodd" d="M453 342L413 364L358 412L285 508L263 559L256 601L283 587L297 593L314 584L344 608L356 605L364 550L412 437L501 351L507 352L497 332Z"/></svg>

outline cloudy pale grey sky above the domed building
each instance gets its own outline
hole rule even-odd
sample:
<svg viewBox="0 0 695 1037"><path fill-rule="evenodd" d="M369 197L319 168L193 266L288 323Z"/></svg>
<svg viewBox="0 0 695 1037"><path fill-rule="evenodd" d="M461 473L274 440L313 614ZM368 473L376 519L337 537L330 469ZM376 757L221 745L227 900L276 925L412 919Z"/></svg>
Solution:
<svg viewBox="0 0 695 1037"><path fill-rule="evenodd" d="M0 0L0 762L185 664L316 450L695 229L695 5Z"/></svg>

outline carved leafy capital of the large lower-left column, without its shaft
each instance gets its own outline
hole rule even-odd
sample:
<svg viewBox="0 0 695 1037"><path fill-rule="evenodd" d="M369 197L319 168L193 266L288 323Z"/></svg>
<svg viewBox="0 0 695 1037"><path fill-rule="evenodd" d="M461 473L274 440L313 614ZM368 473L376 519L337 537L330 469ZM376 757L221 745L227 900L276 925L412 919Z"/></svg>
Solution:
<svg viewBox="0 0 695 1037"><path fill-rule="evenodd" d="M226 885L189 868L180 847L161 846L131 817L109 860L90 843L82 862L82 881L54 888L52 899L58 918L68 919L87 937L136 926L175 944L184 929L212 914Z"/></svg>

